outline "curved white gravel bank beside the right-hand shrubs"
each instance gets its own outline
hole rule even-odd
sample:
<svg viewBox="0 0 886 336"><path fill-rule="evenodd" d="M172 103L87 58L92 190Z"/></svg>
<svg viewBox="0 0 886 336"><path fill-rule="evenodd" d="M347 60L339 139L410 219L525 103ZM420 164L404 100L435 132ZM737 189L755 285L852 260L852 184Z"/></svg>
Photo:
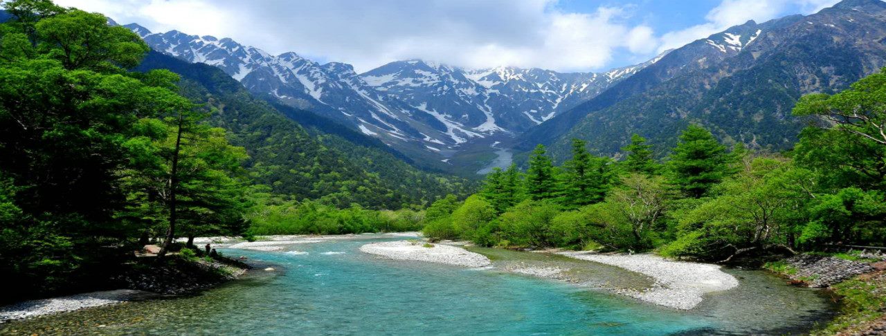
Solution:
<svg viewBox="0 0 886 336"><path fill-rule="evenodd" d="M738 286L732 275L719 265L666 260L653 255L602 255L587 252L560 252L560 255L605 263L648 275L656 280L647 290L621 289L617 292L633 298L675 309L693 309L703 301L703 294Z"/></svg>

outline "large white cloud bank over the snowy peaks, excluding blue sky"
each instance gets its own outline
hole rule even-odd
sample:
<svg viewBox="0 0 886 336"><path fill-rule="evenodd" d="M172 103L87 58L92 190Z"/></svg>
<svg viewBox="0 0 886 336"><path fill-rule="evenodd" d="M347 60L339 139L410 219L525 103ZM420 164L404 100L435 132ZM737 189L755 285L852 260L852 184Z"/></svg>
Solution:
<svg viewBox="0 0 886 336"><path fill-rule="evenodd" d="M231 37L271 53L346 62L366 71L422 58L450 65L517 65L561 71L599 69L614 52L648 52L652 29L626 11L556 9L556 0L300 1L57 0L155 32Z"/></svg>

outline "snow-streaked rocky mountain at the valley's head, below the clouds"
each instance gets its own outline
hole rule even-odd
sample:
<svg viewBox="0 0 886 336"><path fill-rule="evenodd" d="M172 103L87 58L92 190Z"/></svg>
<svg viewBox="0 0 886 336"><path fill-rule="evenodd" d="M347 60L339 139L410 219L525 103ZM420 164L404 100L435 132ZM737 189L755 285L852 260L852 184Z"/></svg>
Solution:
<svg viewBox="0 0 886 336"><path fill-rule="evenodd" d="M657 60L608 73L465 70L411 60L357 74L351 65L321 65L294 52L270 55L229 38L125 27L154 50L221 68L254 94L336 119L406 152L444 156L471 141L520 134Z"/></svg>

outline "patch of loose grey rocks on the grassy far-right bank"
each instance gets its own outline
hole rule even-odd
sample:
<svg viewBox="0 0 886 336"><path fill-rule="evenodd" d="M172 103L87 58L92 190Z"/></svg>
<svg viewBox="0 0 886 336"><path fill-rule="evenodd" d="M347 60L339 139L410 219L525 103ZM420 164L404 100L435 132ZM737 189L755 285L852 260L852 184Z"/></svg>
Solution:
<svg viewBox="0 0 886 336"><path fill-rule="evenodd" d="M798 255L785 259L797 271L790 279L802 281L811 287L827 287L859 274L875 271L868 263L840 259L834 256Z"/></svg>

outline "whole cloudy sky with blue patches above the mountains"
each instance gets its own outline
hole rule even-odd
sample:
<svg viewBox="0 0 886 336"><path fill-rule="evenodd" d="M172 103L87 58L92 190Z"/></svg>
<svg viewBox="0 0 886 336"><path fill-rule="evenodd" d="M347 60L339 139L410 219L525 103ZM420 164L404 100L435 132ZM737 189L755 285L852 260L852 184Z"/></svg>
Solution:
<svg viewBox="0 0 886 336"><path fill-rule="evenodd" d="M55 0L154 33L230 37L358 73L424 59L605 71L740 25L838 0Z"/></svg>

